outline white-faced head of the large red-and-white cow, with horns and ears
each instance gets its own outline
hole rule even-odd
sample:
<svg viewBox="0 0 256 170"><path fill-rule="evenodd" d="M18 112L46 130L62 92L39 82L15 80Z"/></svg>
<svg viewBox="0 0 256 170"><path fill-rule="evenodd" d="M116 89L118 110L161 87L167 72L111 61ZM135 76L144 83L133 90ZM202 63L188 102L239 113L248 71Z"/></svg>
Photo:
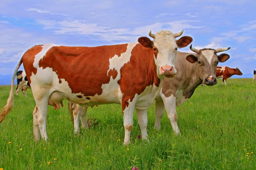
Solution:
<svg viewBox="0 0 256 170"><path fill-rule="evenodd" d="M153 41L147 40L147 37L139 38L140 44L147 48L153 48L154 50L154 61L157 66L157 73L166 77L175 77L177 71L175 69L175 60L177 54L177 48L186 47L192 42L191 37L179 37L183 31L173 34L171 31L159 31L156 34L149 36L154 38Z"/></svg>

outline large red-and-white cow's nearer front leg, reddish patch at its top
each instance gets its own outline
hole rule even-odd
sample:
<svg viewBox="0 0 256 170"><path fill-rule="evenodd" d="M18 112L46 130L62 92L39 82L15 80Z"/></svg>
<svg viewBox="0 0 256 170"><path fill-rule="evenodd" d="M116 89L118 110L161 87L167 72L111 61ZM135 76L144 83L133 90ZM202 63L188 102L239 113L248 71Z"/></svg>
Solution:
<svg viewBox="0 0 256 170"><path fill-rule="evenodd" d="M130 99L122 100L122 110L123 110L124 127L125 127L124 145L128 145L131 142L130 136L131 136L131 130L133 128L133 114L134 114L134 107L135 107L136 100L137 99L135 98L133 99L132 102L130 102Z"/></svg>

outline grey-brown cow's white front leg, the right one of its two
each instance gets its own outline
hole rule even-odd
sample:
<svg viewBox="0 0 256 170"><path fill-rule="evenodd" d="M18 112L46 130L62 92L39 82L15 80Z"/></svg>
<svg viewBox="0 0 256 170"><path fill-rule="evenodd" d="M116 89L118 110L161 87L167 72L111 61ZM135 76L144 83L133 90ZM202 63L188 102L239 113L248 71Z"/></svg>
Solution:
<svg viewBox="0 0 256 170"><path fill-rule="evenodd" d="M172 129L175 131L177 135L180 135L180 129L177 124L177 111L176 111L176 97L169 96L165 97L164 95L161 96L163 99L163 103L168 115L168 118L172 124Z"/></svg>

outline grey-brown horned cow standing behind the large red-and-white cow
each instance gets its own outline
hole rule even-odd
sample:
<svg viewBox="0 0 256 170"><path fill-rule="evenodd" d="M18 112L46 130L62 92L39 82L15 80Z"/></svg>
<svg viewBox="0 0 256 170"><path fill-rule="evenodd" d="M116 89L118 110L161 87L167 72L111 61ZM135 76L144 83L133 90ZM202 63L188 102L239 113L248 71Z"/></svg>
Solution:
<svg viewBox="0 0 256 170"><path fill-rule="evenodd" d="M176 134L180 134L177 125L176 107L183 104L194 93L195 89L201 84L215 85L216 67L218 62L225 62L229 59L228 54L217 55L218 52L226 51L230 48L201 50L192 48L195 53L178 52L176 56L175 68L176 77L172 79L163 79L160 94L156 97L155 103L155 128L160 130L160 122L163 117L164 108L171 121L172 128Z"/></svg>

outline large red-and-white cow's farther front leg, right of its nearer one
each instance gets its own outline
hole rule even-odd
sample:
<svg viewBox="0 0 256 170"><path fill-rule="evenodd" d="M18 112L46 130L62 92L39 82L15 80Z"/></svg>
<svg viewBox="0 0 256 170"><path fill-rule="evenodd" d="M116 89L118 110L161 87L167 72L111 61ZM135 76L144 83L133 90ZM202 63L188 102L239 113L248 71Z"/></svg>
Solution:
<svg viewBox="0 0 256 170"><path fill-rule="evenodd" d="M136 109L136 114L138 118L138 123L140 125L142 139L148 139L147 126L148 126L148 117L147 109ZM149 141L149 140L148 140Z"/></svg>

